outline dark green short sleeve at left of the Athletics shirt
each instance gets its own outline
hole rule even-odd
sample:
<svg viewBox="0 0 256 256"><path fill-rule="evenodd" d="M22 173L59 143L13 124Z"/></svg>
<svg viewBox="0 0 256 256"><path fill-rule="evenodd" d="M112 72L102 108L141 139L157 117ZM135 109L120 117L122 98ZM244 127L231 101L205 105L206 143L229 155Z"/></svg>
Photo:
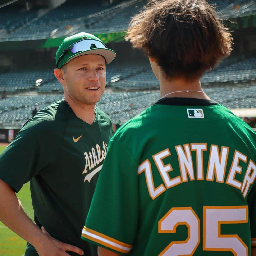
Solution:
<svg viewBox="0 0 256 256"><path fill-rule="evenodd" d="M29 120L0 155L0 179L18 192L52 161L49 131L45 124Z"/></svg>

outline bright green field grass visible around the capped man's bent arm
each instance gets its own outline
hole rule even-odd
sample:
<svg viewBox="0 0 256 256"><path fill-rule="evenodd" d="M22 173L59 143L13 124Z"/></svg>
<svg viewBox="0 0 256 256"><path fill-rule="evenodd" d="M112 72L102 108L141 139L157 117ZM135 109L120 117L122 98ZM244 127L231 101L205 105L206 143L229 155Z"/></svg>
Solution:
<svg viewBox="0 0 256 256"><path fill-rule="evenodd" d="M0 146L0 154L5 147ZM33 219L33 208L30 197L29 183L26 183L17 194L27 215ZM0 255L21 256L24 255L26 241L18 237L14 232L5 227L0 221Z"/></svg>

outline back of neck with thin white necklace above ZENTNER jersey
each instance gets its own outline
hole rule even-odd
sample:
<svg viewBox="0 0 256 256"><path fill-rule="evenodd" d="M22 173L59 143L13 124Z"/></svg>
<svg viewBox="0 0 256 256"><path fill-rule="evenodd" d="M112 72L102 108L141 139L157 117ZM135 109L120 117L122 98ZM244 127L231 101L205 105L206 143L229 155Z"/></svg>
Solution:
<svg viewBox="0 0 256 256"><path fill-rule="evenodd" d="M167 80L164 76L159 77L161 98L210 98L203 93L199 79L193 82L188 82L185 79Z"/></svg>

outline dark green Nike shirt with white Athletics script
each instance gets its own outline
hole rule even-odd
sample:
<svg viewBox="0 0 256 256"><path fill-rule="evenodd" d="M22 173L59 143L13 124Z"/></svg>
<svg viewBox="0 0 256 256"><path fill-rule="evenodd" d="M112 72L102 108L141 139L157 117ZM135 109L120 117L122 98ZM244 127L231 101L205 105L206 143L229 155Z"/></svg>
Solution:
<svg viewBox="0 0 256 256"><path fill-rule="evenodd" d="M97 255L82 241L95 185L113 135L110 118L95 107L92 125L60 100L28 120L0 156L0 179L18 192L30 180L36 225L64 243ZM70 255L78 255L69 253ZM28 244L25 255L38 255Z"/></svg>

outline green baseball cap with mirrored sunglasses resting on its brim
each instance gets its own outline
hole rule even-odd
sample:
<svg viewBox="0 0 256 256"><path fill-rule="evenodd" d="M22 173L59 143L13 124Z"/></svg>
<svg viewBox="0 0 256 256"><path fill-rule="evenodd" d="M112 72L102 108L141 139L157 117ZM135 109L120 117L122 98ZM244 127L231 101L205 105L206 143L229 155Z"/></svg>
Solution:
<svg viewBox="0 0 256 256"><path fill-rule="evenodd" d="M56 68L61 68L70 60L85 54L99 54L106 64L112 62L116 56L98 37L81 32L62 41L56 52Z"/></svg>

